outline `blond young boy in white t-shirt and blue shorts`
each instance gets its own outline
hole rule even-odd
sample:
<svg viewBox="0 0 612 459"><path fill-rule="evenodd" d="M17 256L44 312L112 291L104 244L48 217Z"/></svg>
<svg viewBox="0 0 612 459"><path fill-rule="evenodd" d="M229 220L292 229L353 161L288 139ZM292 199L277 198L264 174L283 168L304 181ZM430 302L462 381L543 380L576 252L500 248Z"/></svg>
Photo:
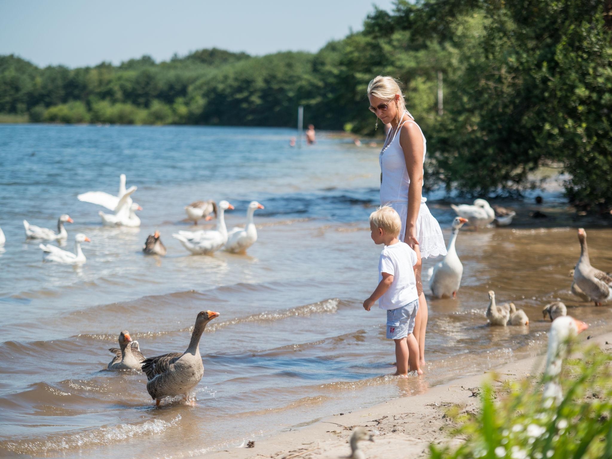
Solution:
<svg viewBox="0 0 612 459"><path fill-rule="evenodd" d="M410 371L422 375L419 368L419 343L412 335L414 319L419 309L419 294L413 266L417 254L397 238L401 230L400 215L392 207L384 206L370 215L371 237L375 244L384 244L378 262L379 284L364 301L369 311L378 300L378 307L387 311L387 339L395 341L398 376Z"/></svg>

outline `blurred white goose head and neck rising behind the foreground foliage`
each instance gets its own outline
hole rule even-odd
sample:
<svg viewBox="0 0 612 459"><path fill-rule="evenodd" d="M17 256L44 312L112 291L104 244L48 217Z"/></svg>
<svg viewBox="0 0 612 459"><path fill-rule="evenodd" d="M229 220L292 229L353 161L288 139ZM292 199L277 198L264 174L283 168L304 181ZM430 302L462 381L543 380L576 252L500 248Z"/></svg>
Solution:
<svg viewBox="0 0 612 459"><path fill-rule="evenodd" d="M567 341L588 329L588 325L572 316L562 316L554 319L548 334L548 349L546 354L546 369L544 370L544 384L542 398L545 406L550 408L553 403L559 404L563 400L559 374L561 365L567 354Z"/></svg>

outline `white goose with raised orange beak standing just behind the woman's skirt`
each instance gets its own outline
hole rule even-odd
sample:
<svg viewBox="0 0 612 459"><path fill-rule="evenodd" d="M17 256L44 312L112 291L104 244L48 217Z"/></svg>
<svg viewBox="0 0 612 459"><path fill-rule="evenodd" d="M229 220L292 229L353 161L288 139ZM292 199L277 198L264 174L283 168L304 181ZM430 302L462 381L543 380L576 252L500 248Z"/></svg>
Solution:
<svg viewBox="0 0 612 459"><path fill-rule="evenodd" d="M449 245L446 248L446 256L433 267L429 287L436 298L457 298L457 291L461 285L463 275L463 264L455 250L455 241L461 226L467 223L467 218L455 217L452 223Z"/></svg>

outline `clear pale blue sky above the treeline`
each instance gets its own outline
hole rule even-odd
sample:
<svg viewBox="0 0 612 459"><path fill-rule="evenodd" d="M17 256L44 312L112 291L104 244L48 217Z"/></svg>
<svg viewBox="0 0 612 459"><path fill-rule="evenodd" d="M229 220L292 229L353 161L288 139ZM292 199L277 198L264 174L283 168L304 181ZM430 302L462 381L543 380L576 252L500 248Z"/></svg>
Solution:
<svg viewBox="0 0 612 459"><path fill-rule="evenodd" d="M0 0L0 54L36 65L155 61L201 48L316 51L392 0Z"/></svg>

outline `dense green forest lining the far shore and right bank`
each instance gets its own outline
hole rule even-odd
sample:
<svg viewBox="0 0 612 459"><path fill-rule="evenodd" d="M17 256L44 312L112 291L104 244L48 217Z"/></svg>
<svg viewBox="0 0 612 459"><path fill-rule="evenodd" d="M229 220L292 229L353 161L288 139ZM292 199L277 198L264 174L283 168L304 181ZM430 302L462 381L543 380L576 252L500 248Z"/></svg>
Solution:
<svg viewBox="0 0 612 459"><path fill-rule="evenodd" d="M609 214L611 64L612 0L398 0L317 53L78 69L0 56L0 119L293 127L304 105L318 129L373 136L367 84L392 75L427 136L428 186L516 195L552 166L570 202Z"/></svg>

